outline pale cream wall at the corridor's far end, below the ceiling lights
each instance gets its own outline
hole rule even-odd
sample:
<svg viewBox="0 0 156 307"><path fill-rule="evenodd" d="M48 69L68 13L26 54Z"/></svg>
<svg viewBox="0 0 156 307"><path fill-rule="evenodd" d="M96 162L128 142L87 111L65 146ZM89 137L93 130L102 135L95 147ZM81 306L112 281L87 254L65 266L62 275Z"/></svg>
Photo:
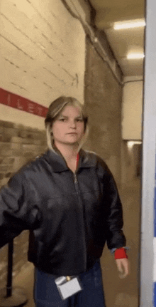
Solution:
<svg viewBox="0 0 156 307"><path fill-rule="evenodd" d="M142 140L143 77L127 77L123 82L122 137Z"/></svg>

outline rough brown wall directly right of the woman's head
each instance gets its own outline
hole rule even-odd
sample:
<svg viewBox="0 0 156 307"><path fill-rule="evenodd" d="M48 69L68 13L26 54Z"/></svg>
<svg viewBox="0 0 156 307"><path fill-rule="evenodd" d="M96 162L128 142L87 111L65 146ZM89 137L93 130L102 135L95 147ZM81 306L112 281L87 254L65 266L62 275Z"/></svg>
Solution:
<svg viewBox="0 0 156 307"><path fill-rule="evenodd" d="M85 147L106 161L118 186L121 183L121 100L121 85L87 38L85 105L90 132Z"/></svg>

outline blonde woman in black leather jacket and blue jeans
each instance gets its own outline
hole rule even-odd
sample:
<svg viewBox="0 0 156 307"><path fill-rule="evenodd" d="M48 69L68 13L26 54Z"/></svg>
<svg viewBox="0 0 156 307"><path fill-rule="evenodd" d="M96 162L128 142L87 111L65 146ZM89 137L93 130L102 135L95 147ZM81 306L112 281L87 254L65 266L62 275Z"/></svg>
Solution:
<svg viewBox="0 0 156 307"><path fill-rule="evenodd" d="M116 184L105 162L81 149L88 124L76 99L51 103L45 128L48 151L1 189L0 247L30 230L35 306L104 307L99 258L105 241L128 275Z"/></svg>

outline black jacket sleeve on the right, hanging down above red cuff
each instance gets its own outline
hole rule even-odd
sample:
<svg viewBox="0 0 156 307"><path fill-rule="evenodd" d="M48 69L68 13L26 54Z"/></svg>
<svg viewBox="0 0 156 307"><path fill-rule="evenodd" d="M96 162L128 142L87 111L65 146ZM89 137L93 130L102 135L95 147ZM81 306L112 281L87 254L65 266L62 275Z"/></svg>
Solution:
<svg viewBox="0 0 156 307"><path fill-rule="evenodd" d="M123 234L123 209L116 182L110 170L104 176L104 199L106 200L106 241L108 249L126 246Z"/></svg>

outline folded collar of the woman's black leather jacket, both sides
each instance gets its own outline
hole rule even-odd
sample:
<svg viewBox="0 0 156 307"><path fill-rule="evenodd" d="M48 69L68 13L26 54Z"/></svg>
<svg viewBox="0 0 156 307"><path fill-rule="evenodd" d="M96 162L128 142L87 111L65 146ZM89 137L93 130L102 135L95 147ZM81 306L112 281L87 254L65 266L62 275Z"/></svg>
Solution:
<svg viewBox="0 0 156 307"><path fill-rule="evenodd" d="M53 172L65 172L69 170L65 158L61 155L59 150L47 150L43 155L43 158L50 164ZM77 170L80 168L94 167L96 165L95 158L91 159L89 152L79 151L79 163Z"/></svg>

